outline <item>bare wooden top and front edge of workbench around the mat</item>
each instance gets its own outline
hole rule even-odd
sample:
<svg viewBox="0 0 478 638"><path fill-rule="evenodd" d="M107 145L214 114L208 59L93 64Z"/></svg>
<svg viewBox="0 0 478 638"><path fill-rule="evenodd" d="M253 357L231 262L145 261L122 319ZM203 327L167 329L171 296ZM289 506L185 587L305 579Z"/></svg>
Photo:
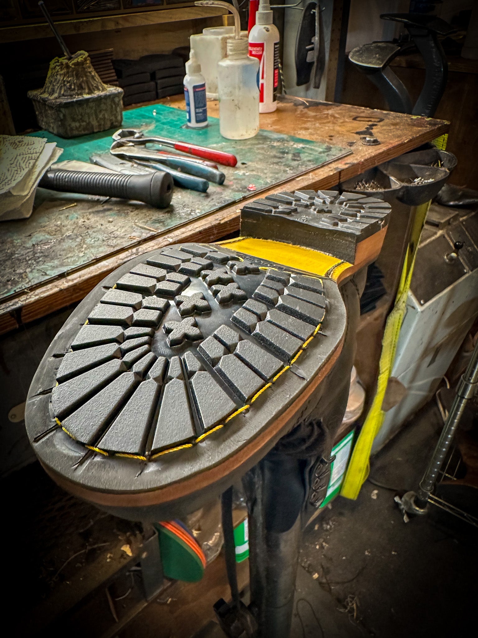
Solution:
<svg viewBox="0 0 478 638"><path fill-rule="evenodd" d="M159 103L185 110L182 96L159 100ZM208 102L208 114L218 117L217 101ZM282 96L276 112L261 115L261 129L326 142L352 151L322 167L279 182L280 190L294 191L331 188L368 168L444 135L449 130L449 122ZM373 138L378 140L378 144L373 142ZM371 141L373 144L370 144ZM275 184L261 191L261 197L277 190ZM131 235L124 237L124 248L116 248L110 253L105 251L101 259L65 270L38 285L4 293L0 299L0 334L83 299L108 273L135 256L175 242L212 242L236 232L240 209L247 201L257 198L258 192L251 192L250 197L242 199L240 204L235 202L223 206L199 218L183 221L165 232L156 232L152 226L148 226L145 218L143 232L133 233L132 228ZM54 205L60 210L65 203L61 201ZM108 202L108 207L115 207L114 200ZM80 211L78 213L77 221L81 225ZM22 221L16 223L21 225ZM36 267L35 254L34 251L31 259L25 263L25 268ZM8 281L9 273L4 272L3 278Z"/></svg>

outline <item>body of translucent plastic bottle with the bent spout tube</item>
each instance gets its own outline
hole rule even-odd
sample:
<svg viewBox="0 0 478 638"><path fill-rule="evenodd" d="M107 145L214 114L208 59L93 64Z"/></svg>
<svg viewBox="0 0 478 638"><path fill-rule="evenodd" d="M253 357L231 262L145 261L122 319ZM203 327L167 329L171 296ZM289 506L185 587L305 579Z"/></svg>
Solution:
<svg viewBox="0 0 478 638"><path fill-rule="evenodd" d="M245 140L259 132L259 61L247 55L246 38L228 40L228 56L217 64L219 132L229 140Z"/></svg>

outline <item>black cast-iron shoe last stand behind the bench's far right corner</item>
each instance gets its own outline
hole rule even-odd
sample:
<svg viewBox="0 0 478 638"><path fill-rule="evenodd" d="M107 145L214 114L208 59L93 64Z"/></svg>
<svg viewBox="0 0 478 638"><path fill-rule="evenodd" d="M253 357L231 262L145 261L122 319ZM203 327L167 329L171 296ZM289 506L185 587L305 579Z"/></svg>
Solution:
<svg viewBox="0 0 478 638"><path fill-rule="evenodd" d="M388 66L400 54L400 47L390 42L362 45L349 53L349 60L379 88L390 110L433 117L448 77L448 63L438 36L449 35L456 29L440 18L421 13L384 13L380 17L403 24L423 57L425 81L415 105L412 106L407 89Z"/></svg>

